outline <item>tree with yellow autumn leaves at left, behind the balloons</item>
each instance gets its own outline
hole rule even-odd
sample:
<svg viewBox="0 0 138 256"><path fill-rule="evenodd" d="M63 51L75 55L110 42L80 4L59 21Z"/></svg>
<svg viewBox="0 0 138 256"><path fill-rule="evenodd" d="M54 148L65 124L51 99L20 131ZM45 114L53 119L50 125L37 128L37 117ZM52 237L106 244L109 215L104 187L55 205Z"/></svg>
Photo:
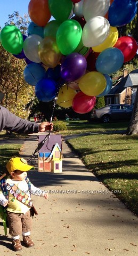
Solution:
<svg viewBox="0 0 138 256"><path fill-rule="evenodd" d="M9 15L11 25L17 26L23 34L27 34L28 17L19 16L19 12ZM7 25L7 23L5 25ZM23 77L26 62L15 58L0 45L0 91L5 94L3 106L13 114L27 118L34 101L34 87L28 85Z"/></svg>

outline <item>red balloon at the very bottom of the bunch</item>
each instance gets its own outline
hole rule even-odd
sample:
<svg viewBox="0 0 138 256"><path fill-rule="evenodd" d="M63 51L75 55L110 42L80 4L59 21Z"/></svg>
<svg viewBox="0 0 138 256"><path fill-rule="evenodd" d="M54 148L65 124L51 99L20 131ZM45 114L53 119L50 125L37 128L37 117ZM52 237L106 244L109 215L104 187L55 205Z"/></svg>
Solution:
<svg viewBox="0 0 138 256"><path fill-rule="evenodd" d="M85 114L90 112L96 104L96 98L94 96L88 96L83 92L78 92L73 101L72 109L79 114Z"/></svg>

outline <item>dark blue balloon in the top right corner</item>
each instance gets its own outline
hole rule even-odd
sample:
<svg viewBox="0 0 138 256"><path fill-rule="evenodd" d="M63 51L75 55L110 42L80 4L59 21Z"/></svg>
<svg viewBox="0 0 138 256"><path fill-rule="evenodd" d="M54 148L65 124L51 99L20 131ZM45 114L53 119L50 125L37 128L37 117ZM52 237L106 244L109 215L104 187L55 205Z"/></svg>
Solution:
<svg viewBox="0 0 138 256"><path fill-rule="evenodd" d="M136 11L135 0L114 0L108 11L110 26L125 26L134 19Z"/></svg>

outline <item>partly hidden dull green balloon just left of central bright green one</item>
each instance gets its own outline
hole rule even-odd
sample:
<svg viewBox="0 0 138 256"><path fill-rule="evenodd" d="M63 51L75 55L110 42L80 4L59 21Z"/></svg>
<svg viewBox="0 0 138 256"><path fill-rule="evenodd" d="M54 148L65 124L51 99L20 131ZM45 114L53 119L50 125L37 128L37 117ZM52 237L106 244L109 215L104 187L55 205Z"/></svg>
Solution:
<svg viewBox="0 0 138 256"><path fill-rule="evenodd" d="M56 32L60 26L61 22L57 20L51 20L46 24L44 27L44 37L46 36L53 36L54 38L56 37Z"/></svg>

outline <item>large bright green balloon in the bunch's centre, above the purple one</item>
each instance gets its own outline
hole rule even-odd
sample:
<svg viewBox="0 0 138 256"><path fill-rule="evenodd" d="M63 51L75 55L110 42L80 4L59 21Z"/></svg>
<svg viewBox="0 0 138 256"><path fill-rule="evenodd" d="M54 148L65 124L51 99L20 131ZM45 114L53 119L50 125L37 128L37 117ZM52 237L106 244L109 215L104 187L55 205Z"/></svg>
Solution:
<svg viewBox="0 0 138 256"><path fill-rule="evenodd" d="M63 55L73 52L82 37L82 27L76 20L66 20L60 26L56 33L56 43Z"/></svg>

